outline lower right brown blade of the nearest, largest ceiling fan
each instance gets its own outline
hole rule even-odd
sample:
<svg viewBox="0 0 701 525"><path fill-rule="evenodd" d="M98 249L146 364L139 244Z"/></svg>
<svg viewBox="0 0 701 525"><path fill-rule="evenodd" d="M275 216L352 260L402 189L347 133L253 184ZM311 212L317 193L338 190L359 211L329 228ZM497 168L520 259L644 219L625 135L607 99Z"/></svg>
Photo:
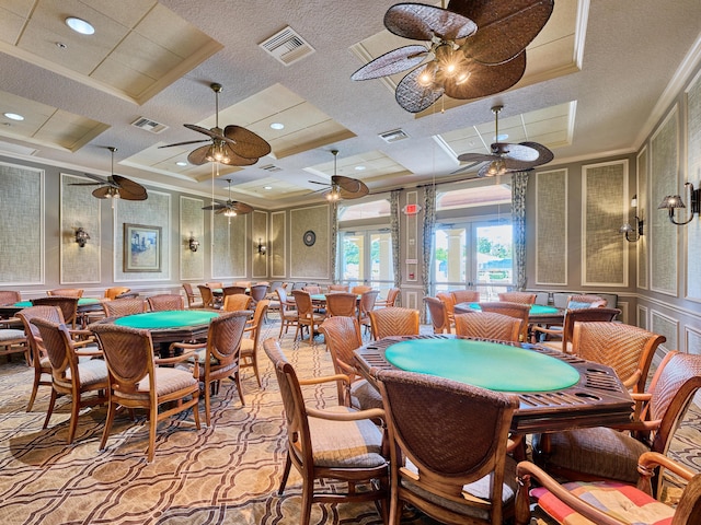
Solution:
<svg viewBox="0 0 701 525"><path fill-rule="evenodd" d="M445 80L446 95L451 98L481 98L501 93L518 82L526 71L526 51L521 51L513 59L490 66L469 60L464 68L470 72L467 80L459 83L457 78Z"/></svg>

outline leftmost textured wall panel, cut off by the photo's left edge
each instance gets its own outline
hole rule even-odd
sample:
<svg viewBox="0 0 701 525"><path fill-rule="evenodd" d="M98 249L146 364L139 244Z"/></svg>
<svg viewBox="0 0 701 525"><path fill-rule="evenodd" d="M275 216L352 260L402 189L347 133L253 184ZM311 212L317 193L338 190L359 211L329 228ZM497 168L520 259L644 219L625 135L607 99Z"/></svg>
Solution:
<svg viewBox="0 0 701 525"><path fill-rule="evenodd" d="M44 171L0 163L0 282L44 282Z"/></svg>

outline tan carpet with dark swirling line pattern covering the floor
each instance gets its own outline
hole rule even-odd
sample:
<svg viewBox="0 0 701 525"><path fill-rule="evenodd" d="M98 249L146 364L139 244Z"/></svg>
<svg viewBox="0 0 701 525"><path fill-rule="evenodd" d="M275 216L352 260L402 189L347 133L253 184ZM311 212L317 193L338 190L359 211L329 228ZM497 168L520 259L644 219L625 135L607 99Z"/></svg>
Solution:
<svg viewBox="0 0 701 525"><path fill-rule="evenodd" d="M273 317L273 316L272 316ZM272 318L265 337L276 337ZM331 372L323 338L310 347L283 338L300 375ZM3 524L296 524L301 480L294 471L284 497L277 487L284 464L284 420L269 361L261 354L263 387L248 374L245 407L230 382L212 399L212 425L195 429L192 415L159 424L156 457L146 462L148 427L115 421L100 452L105 409L81 412L72 445L66 445L69 405L59 399L42 430L48 388L26 412L32 371L15 357L0 364L0 523ZM311 402L335 401L335 386L306 387ZM200 405L202 406L202 405ZM204 416L204 415L203 415ZM202 418L204 421L204 417ZM701 470L701 417L678 432L675 455ZM333 488L333 486L332 486ZM312 524L379 524L374 504L312 505ZM434 523L407 515L402 523Z"/></svg>

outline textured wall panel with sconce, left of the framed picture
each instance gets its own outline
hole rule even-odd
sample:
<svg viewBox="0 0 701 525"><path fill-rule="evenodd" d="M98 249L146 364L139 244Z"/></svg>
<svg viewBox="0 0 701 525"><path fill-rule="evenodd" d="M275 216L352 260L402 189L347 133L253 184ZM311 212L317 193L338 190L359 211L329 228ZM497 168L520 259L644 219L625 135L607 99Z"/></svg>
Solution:
<svg viewBox="0 0 701 525"><path fill-rule="evenodd" d="M61 284L101 282L100 199L92 196L92 187L71 186L90 182L87 177L61 174L60 257ZM90 240L82 248L76 243L76 230L82 226Z"/></svg>

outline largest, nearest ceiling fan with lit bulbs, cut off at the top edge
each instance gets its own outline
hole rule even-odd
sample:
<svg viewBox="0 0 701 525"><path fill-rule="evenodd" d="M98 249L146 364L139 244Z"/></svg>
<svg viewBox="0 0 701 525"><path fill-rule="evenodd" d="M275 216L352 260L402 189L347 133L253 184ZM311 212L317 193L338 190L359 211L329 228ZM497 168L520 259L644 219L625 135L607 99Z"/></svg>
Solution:
<svg viewBox="0 0 701 525"><path fill-rule="evenodd" d="M384 26L412 40L350 75L370 80L411 71L397 85L402 108L420 113L445 93L479 98L506 91L526 70L526 46L550 19L554 0L450 0L448 8L398 3Z"/></svg>

